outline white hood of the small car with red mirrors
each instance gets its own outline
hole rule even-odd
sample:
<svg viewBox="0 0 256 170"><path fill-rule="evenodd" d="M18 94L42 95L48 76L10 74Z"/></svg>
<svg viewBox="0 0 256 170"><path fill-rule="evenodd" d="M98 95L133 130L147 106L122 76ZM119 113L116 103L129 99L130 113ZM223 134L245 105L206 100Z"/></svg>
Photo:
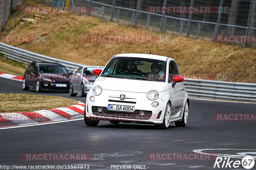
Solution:
<svg viewBox="0 0 256 170"><path fill-rule="evenodd" d="M165 82L133 80L125 78L98 77L94 81L93 87L99 85L102 90L116 90L127 92L148 93L151 90L162 92L167 90Z"/></svg>

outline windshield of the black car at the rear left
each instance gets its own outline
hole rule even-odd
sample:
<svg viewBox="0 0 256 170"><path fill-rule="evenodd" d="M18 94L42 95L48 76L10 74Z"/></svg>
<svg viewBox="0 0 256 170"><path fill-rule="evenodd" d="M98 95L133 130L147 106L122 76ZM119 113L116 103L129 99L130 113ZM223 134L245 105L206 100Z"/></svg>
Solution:
<svg viewBox="0 0 256 170"><path fill-rule="evenodd" d="M57 65L41 65L39 66L39 72L52 74L68 74L68 71L64 66Z"/></svg>

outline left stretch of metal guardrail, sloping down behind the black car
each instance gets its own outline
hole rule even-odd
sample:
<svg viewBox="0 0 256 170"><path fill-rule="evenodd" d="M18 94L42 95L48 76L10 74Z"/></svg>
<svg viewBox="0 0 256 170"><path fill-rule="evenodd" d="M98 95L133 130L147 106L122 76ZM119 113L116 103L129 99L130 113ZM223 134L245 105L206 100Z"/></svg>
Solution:
<svg viewBox="0 0 256 170"><path fill-rule="evenodd" d="M46 55L33 53L28 50L23 50L14 46L10 46L4 43L0 43L0 53L6 55L6 58L14 60L20 63L29 64L33 61L42 62L54 62L59 63L67 68L68 71L74 71L78 67L84 66L83 64L78 64L66 60L60 60Z"/></svg>

